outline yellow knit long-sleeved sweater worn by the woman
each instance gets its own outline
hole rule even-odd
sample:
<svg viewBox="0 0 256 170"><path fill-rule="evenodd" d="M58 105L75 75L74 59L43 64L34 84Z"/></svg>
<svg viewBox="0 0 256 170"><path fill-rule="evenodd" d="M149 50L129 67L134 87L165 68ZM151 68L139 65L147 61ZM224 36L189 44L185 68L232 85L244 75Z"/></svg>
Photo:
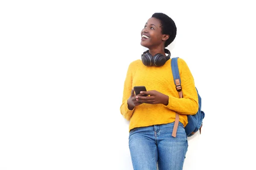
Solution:
<svg viewBox="0 0 256 170"><path fill-rule="evenodd" d="M160 125L175 121L175 112L180 113L180 122L187 125L187 114L193 115L198 111L198 96L194 78L186 62L178 58L183 98L179 98L171 68L171 59L160 67L145 66L140 59L131 62L124 82L121 114L130 120L129 132L135 127ZM156 90L169 96L169 104L146 104L128 109L127 100L134 86L144 85L147 91Z"/></svg>

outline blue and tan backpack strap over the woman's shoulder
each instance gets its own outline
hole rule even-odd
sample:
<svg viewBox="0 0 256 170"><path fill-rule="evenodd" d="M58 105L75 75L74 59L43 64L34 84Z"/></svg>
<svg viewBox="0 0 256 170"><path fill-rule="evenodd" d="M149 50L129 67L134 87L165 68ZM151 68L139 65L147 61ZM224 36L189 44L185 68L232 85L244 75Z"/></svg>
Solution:
<svg viewBox="0 0 256 170"><path fill-rule="evenodd" d="M172 58L171 68L172 68L172 75L173 75L174 83L176 86L176 90L178 91L180 98L182 98L183 94L182 94L181 81L180 81L180 72L179 72L179 68L178 68L178 58L179 57ZM172 130L173 137L176 137L179 120L180 120L179 114L176 112L174 127Z"/></svg>

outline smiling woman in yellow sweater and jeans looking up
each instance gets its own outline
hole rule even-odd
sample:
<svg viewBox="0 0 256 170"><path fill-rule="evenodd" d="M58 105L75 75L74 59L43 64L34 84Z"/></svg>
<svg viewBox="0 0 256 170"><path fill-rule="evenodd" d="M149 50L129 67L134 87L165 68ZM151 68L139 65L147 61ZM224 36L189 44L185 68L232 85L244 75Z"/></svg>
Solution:
<svg viewBox="0 0 256 170"><path fill-rule="evenodd" d="M129 149L134 170L157 170L157 164L159 170L183 169L188 148L186 115L197 112L198 96L183 59L178 59L183 98L173 82L166 47L175 39L176 31L174 21L166 14L153 14L141 31L140 44L148 51L142 54L142 60L128 67L120 111L130 120ZM145 86L147 91L135 95L134 86ZM179 122L175 137L172 131L176 112Z"/></svg>

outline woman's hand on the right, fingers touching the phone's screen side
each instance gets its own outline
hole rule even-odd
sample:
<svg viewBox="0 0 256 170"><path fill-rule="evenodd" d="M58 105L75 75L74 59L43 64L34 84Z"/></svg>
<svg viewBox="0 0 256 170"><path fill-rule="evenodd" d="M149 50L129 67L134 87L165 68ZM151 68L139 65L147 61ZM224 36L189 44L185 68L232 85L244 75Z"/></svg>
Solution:
<svg viewBox="0 0 256 170"><path fill-rule="evenodd" d="M159 91L141 91L140 94L140 96L135 96L137 102L163 105L169 104L169 96L162 94ZM148 96L143 96L145 94Z"/></svg>

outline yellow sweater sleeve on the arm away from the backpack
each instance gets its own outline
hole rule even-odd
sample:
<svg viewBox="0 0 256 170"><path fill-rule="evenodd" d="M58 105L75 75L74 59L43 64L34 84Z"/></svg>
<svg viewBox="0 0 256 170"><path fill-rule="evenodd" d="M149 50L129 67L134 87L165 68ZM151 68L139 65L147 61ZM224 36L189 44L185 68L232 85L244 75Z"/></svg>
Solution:
<svg viewBox="0 0 256 170"><path fill-rule="evenodd" d="M123 97L122 97L122 105L120 107L121 114L127 120L131 119L131 116L132 116L132 114L134 112L134 109L133 110L129 110L128 109L128 104L127 104L127 100L131 96L131 89L132 89L132 69L131 69L131 64L128 67L128 71L127 71L127 74L126 74L126 77L125 77L124 89L123 89Z"/></svg>

